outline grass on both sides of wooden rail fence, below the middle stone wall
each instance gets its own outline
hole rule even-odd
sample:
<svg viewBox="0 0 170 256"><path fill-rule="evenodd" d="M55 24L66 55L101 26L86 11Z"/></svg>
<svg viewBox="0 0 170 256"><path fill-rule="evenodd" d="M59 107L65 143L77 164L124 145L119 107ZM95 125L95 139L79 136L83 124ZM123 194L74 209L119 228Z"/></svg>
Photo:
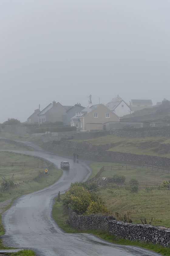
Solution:
<svg viewBox="0 0 170 256"><path fill-rule="evenodd" d="M92 174L90 178L94 177L97 172L100 171L100 169L103 166L122 166L126 164L118 164L118 163L108 163L108 162L97 162L90 165L90 168L92 169ZM161 183L163 180L170 180L170 172L167 171L157 171L152 169L146 169L142 167L131 167L129 169L129 166L127 166L126 169L114 169L114 170L105 170L101 173L101 177L113 177L114 174L123 175L126 177L125 183L130 183L130 180L132 178L138 180L139 183L145 183L145 182L155 182L155 183ZM90 179L89 178L89 179Z"/></svg>

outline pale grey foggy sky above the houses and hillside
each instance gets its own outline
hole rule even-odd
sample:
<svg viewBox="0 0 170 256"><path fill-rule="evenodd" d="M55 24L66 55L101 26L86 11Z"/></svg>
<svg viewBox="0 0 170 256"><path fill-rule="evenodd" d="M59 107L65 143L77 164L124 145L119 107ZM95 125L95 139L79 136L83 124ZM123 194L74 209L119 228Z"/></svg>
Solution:
<svg viewBox="0 0 170 256"><path fill-rule="evenodd" d="M170 100L169 0L0 0L0 123L53 100Z"/></svg>

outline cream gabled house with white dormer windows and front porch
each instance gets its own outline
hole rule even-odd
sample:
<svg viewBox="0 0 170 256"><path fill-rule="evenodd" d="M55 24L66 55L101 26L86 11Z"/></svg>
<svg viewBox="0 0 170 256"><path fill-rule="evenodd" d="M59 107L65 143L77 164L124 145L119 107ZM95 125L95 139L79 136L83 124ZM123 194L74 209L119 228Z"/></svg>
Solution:
<svg viewBox="0 0 170 256"><path fill-rule="evenodd" d="M89 105L71 118L78 131L103 130L106 122L119 122L119 117L103 104Z"/></svg>

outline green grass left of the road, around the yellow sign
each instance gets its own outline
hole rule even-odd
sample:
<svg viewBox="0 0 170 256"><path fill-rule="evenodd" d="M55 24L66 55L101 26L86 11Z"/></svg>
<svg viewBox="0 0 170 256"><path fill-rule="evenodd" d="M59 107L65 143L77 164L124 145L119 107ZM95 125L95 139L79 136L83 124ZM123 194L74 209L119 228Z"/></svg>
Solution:
<svg viewBox="0 0 170 256"><path fill-rule="evenodd" d="M3 176L5 176L7 180L10 180L12 174L14 174L14 183L21 183L19 187L12 189L10 192L0 193L0 202L48 187L55 183L62 175L60 169L53 168L52 170L49 170L48 175L41 177L38 182L23 183L23 181L34 179L40 172L43 172L45 163L47 164L47 162L37 157L7 151L0 151L0 161L0 184L3 181ZM14 162L14 166L4 167L5 162L7 162L7 165ZM37 168L38 163L39 168ZM15 166L15 164L22 164L22 166ZM27 165L32 167L28 167ZM43 166L43 168L41 168L41 166Z"/></svg>

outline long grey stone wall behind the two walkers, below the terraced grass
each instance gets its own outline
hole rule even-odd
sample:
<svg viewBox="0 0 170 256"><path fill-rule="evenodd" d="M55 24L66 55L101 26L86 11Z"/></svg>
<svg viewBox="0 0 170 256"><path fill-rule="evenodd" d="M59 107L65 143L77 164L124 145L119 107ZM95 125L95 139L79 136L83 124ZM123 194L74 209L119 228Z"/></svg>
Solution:
<svg viewBox="0 0 170 256"><path fill-rule="evenodd" d="M120 162L132 162L132 163L140 163L140 164L148 164L148 165L156 165L162 167L170 166L170 158L160 157L160 156L151 156L151 155L137 155L131 153L122 153L122 152L114 152L114 151L92 151L83 148L73 148L67 147L64 145L55 144L55 142L46 142L42 144L45 148L53 148L56 151L61 151L64 153L79 154L79 156L94 158L100 160L109 160L109 161L120 161Z"/></svg>

